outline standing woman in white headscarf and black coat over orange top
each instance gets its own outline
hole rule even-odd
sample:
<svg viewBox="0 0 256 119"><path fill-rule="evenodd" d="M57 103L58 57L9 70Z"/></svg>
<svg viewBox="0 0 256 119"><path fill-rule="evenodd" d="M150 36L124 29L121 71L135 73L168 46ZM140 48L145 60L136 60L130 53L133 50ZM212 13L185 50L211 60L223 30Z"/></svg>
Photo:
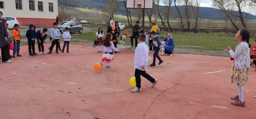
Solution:
<svg viewBox="0 0 256 119"><path fill-rule="evenodd" d="M107 27L107 32L113 35L112 42L114 43L115 48L117 48L116 43L117 43L118 29L115 26L115 22L113 20L110 21L110 26ZM118 53L118 52L115 51L115 53Z"/></svg>

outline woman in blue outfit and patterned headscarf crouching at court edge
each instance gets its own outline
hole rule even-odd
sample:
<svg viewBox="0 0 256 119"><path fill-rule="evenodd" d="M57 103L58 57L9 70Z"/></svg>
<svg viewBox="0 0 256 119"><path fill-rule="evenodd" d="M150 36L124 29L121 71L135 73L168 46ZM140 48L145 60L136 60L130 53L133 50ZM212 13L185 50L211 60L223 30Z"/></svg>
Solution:
<svg viewBox="0 0 256 119"><path fill-rule="evenodd" d="M174 49L174 42L170 33L166 35L166 38L164 39L164 41L166 43L165 55L172 56L172 51Z"/></svg>

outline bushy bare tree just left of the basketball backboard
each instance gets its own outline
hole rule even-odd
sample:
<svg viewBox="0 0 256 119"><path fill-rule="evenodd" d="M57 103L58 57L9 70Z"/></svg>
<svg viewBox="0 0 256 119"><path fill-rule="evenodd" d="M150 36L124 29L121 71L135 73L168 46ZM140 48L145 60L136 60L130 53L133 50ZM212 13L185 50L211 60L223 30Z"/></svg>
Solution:
<svg viewBox="0 0 256 119"><path fill-rule="evenodd" d="M119 2L117 0L108 0L108 3L106 5L104 5L104 9L103 12L105 14L105 17L107 17L108 21L113 20L114 18L114 14L116 13L118 6L119 6Z"/></svg>

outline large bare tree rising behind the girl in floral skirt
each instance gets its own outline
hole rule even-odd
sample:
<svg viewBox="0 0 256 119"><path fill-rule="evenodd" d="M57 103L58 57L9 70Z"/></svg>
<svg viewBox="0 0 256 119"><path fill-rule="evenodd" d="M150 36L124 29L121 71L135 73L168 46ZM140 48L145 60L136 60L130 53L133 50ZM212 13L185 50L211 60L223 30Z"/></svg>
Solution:
<svg viewBox="0 0 256 119"><path fill-rule="evenodd" d="M236 30L239 30L238 26L235 24L234 20L235 17L239 18L243 28L246 27L246 23L243 17L243 8L248 5L248 0L212 0L213 6L222 10L228 19L230 20L231 24L235 27Z"/></svg>

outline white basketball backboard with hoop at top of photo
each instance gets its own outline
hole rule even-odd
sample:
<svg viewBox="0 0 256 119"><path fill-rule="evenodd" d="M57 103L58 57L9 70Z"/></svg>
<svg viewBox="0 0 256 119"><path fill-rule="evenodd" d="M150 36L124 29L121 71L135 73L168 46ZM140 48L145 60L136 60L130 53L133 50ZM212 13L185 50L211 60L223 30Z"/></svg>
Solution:
<svg viewBox="0 0 256 119"><path fill-rule="evenodd" d="M126 0L126 8L153 9L154 0Z"/></svg>

